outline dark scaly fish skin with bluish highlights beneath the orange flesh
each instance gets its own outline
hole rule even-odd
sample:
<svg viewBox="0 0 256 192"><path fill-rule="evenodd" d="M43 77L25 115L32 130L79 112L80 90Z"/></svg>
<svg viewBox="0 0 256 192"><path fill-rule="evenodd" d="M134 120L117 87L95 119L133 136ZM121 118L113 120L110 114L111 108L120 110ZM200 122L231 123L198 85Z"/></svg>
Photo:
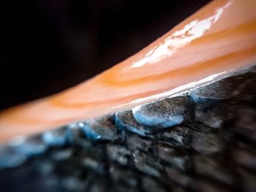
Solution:
<svg viewBox="0 0 256 192"><path fill-rule="evenodd" d="M256 191L255 87L252 69L196 89L173 127L127 111L16 139L0 148L0 191ZM161 102L146 109L187 106Z"/></svg>

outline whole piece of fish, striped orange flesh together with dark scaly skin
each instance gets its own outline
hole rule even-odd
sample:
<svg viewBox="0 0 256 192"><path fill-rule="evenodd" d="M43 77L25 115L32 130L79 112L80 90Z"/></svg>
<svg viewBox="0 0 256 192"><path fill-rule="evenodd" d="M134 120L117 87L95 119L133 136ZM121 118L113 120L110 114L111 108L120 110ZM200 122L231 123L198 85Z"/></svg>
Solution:
<svg viewBox="0 0 256 192"><path fill-rule="evenodd" d="M0 191L256 191L256 1L211 1L127 60L0 113Z"/></svg>

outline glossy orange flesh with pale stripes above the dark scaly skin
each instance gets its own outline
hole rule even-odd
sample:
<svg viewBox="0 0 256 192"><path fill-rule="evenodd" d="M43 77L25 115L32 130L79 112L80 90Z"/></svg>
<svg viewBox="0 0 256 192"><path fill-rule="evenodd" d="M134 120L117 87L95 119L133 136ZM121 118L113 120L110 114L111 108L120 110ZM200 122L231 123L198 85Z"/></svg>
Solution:
<svg viewBox="0 0 256 192"><path fill-rule="evenodd" d="M212 1L91 80L0 113L0 142L146 104L256 64L256 1Z"/></svg>

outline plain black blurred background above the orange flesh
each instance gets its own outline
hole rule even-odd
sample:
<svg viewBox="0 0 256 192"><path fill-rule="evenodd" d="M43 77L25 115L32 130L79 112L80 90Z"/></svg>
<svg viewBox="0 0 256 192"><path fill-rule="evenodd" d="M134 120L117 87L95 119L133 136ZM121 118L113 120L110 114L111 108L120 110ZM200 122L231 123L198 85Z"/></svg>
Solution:
<svg viewBox="0 0 256 192"><path fill-rule="evenodd" d="M208 1L2 0L0 110L93 77Z"/></svg>

